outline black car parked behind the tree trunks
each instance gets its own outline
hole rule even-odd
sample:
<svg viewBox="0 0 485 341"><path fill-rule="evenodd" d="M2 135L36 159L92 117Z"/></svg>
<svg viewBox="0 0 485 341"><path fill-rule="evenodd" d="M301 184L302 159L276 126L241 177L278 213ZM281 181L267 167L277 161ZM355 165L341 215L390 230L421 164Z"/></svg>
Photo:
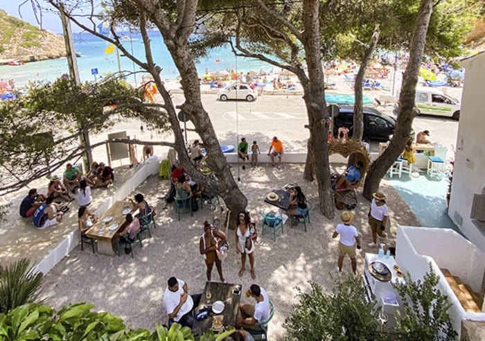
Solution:
<svg viewBox="0 0 485 341"><path fill-rule="evenodd" d="M394 134L396 120L383 114L373 107L364 107L364 134L362 139L387 141L389 136ZM339 114L333 118L333 136L337 137L337 131L340 127L349 128L349 137L353 135L353 106L339 105ZM414 131L411 131L414 138Z"/></svg>

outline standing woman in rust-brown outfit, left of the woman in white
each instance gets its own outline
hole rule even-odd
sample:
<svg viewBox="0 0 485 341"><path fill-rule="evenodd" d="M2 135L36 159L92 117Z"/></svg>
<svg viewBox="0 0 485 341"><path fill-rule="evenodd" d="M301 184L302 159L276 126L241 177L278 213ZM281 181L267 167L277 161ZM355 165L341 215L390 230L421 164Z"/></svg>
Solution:
<svg viewBox="0 0 485 341"><path fill-rule="evenodd" d="M217 239L216 239L217 238ZM220 281L225 283L224 276L222 276L222 262L215 253L218 250L218 243L226 243L226 236L224 236L220 231L213 231L211 224L204 221L204 234L200 236L199 250L200 254L204 256L207 271L207 281L211 281L212 268L215 263L215 268L218 270Z"/></svg>

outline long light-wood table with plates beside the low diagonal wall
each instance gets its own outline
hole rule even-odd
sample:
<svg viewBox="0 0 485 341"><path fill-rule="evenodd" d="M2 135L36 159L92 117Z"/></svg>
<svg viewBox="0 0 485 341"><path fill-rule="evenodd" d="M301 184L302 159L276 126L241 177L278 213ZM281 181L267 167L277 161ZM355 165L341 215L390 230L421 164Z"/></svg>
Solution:
<svg viewBox="0 0 485 341"><path fill-rule="evenodd" d="M112 207L99 218L98 222L94 224L89 230L86 231L86 236L94 238L98 241L98 254L106 254L107 256L116 256L116 245L114 245L116 238L114 235L118 233L125 222L125 215L123 215L123 209L127 205L123 201L117 201ZM109 222L103 222L106 217L112 217ZM114 223L118 224L118 227L112 231L109 231L108 227ZM100 232L100 230L102 232Z"/></svg>

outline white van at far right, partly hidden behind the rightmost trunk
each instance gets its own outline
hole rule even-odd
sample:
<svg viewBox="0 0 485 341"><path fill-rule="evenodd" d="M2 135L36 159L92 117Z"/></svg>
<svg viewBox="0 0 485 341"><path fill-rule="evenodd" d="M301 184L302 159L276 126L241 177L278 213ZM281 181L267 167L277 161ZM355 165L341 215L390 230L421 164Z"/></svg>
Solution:
<svg viewBox="0 0 485 341"><path fill-rule="evenodd" d="M433 87L416 87L416 108L418 115L448 116L458 121L460 118L460 101ZM394 108L397 114L398 107Z"/></svg>

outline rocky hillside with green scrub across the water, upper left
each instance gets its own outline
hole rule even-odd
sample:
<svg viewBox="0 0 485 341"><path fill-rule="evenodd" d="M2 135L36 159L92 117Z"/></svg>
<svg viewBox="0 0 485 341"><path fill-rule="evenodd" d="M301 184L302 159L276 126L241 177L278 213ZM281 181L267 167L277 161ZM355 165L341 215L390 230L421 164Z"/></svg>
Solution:
<svg viewBox="0 0 485 341"><path fill-rule="evenodd" d="M0 10L0 59L32 62L65 55L63 37Z"/></svg>

